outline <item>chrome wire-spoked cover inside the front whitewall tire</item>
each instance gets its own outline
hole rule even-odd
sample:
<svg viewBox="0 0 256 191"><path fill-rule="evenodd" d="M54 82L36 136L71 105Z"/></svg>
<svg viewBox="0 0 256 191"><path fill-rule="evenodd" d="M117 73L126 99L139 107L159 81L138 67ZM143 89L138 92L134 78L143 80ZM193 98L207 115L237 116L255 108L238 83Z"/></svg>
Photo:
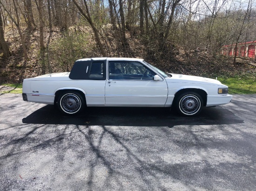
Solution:
<svg viewBox="0 0 256 191"><path fill-rule="evenodd" d="M196 113L200 109L200 105L199 98L194 95L184 96L180 101L180 109L186 114Z"/></svg>

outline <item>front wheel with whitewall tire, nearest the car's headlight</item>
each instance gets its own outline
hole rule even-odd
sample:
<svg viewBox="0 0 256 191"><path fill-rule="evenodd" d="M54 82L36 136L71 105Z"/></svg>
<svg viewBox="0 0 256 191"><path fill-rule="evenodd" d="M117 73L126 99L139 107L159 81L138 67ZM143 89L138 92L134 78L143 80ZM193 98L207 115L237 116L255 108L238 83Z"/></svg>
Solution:
<svg viewBox="0 0 256 191"><path fill-rule="evenodd" d="M178 96L175 103L176 110L184 116L195 116L202 111L202 96L195 92L185 92Z"/></svg>

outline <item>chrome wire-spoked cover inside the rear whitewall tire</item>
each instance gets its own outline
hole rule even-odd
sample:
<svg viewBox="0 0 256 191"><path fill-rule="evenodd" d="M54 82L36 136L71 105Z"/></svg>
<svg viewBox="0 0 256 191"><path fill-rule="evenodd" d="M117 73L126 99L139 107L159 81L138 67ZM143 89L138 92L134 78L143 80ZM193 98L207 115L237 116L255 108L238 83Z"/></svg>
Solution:
<svg viewBox="0 0 256 191"><path fill-rule="evenodd" d="M68 112L76 112L81 108L80 98L73 94L67 94L61 99L62 107Z"/></svg>

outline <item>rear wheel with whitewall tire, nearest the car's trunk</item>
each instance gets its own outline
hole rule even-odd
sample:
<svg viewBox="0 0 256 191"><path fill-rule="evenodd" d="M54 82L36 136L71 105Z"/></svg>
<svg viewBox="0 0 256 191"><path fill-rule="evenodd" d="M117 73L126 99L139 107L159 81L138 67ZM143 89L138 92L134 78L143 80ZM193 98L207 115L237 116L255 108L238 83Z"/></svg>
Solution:
<svg viewBox="0 0 256 191"><path fill-rule="evenodd" d="M85 108L85 99L75 91L65 91L58 97L58 108L65 115L76 115Z"/></svg>

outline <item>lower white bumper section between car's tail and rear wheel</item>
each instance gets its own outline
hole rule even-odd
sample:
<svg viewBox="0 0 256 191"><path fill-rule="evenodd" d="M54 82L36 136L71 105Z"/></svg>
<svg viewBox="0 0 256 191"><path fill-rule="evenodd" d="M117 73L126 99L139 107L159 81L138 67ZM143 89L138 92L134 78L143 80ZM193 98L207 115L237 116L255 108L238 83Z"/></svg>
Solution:
<svg viewBox="0 0 256 191"><path fill-rule="evenodd" d="M23 101L34 103L45 103L54 105L54 97L52 94L26 94L22 93Z"/></svg>

